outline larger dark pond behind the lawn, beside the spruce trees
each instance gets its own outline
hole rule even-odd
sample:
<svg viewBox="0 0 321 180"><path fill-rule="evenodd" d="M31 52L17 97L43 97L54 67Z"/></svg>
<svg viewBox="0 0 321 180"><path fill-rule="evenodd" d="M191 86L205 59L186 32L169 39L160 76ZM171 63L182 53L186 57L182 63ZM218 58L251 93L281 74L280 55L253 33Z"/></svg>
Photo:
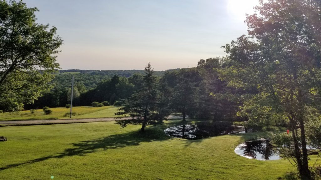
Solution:
<svg viewBox="0 0 321 180"><path fill-rule="evenodd" d="M218 125L215 123L198 123L170 127L165 129L167 135L184 139L201 139L205 137L245 133L244 127Z"/></svg>

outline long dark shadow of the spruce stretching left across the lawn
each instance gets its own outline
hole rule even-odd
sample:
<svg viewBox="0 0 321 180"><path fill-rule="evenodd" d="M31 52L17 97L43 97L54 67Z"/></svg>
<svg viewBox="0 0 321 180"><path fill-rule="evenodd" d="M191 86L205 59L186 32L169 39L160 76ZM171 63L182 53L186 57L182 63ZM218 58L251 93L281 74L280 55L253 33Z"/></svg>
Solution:
<svg viewBox="0 0 321 180"><path fill-rule="evenodd" d="M98 150L116 149L126 146L138 146L142 142L164 141L167 139L170 139L170 137L165 135L161 129L157 127L149 127L145 129L144 133L132 131L129 133L110 135L99 139L73 143L73 148L65 149L64 152L58 155L37 158L22 163L10 164L0 167L0 171L9 168L15 168L21 165L33 164L48 159L64 158L66 156L85 156L88 153L93 153Z"/></svg>

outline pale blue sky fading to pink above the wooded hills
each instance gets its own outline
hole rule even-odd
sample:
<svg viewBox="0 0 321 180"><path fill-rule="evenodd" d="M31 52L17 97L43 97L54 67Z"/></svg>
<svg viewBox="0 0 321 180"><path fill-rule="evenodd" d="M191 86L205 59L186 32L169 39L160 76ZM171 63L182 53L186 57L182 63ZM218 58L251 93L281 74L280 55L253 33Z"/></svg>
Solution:
<svg viewBox="0 0 321 180"><path fill-rule="evenodd" d="M62 69L154 70L195 67L224 56L247 34L258 0L23 0L37 22L57 28Z"/></svg>

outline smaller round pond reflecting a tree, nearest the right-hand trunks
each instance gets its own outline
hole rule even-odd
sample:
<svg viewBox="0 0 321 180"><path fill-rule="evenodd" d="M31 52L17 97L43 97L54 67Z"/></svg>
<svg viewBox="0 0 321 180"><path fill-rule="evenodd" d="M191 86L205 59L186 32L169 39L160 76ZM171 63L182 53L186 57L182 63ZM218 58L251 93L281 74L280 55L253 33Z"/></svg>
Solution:
<svg viewBox="0 0 321 180"><path fill-rule="evenodd" d="M247 141L235 148L235 153L240 156L257 160L279 160L279 154L273 151L273 146L269 139L257 139Z"/></svg>

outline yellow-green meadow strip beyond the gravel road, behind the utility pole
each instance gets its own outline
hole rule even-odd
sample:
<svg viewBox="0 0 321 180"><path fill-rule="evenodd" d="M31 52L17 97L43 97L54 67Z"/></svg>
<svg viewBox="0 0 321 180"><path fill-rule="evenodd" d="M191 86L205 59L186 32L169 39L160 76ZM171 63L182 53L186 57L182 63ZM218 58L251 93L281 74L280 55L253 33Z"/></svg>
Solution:
<svg viewBox="0 0 321 180"><path fill-rule="evenodd" d="M6 112L0 113L0 121L12 121L12 120L38 120L38 119L70 119L70 108L50 108L52 113L45 115L42 109L37 110L35 113L31 113L30 110L24 110L19 112ZM72 119L83 118L113 118L118 107L104 106L104 107L91 107L91 106L78 106L73 107Z"/></svg>

